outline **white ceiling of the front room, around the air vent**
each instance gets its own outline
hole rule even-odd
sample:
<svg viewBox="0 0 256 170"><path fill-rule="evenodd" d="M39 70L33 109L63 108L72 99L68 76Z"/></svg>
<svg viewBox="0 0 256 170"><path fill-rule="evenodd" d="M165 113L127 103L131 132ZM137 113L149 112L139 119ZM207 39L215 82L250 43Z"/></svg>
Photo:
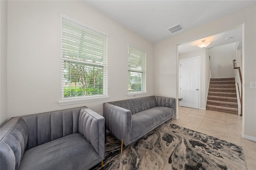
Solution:
<svg viewBox="0 0 256 170"><path fill-rule="evenodd" d="M255 0L84 0L146 40L158 42L241 10ZM174 34L167 29L181 24Z"/></svg>

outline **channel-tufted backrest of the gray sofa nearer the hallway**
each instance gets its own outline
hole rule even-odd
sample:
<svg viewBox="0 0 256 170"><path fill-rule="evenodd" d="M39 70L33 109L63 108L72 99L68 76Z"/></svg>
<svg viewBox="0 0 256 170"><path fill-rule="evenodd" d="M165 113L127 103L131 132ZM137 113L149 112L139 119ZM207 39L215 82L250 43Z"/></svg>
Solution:
<svg viewBox="0 0 256 170"><path fill-rule="evenodd" d="M110 104L122 107L124 109L128 109L133 115L135 113L139 113L152 107L156 107L156 97L141 97L137 99L110 102Z"/></svg>

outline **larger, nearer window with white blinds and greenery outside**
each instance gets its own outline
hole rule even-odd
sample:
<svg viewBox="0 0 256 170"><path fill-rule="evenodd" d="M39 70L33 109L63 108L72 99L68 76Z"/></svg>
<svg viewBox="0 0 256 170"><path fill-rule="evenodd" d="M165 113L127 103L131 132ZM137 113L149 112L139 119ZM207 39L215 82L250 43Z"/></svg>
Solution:
<svg viewBox="0 0 256 170"><path fill-rule="evenodd" d="M62 100L107 96L107 37L62 17Z"/></svg>

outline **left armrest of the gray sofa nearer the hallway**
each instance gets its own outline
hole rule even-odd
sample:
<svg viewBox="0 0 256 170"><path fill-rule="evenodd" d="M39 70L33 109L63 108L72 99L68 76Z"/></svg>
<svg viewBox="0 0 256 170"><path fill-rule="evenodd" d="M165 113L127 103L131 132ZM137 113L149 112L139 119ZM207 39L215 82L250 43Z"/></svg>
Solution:
<svg viewBox="0 0 256 170"><path fill-rule="evenodd" d="M132 127L131 111L110 103L104 103L103 108L106 128L119 140L123 139L124 145L127 146Z"/></svg>

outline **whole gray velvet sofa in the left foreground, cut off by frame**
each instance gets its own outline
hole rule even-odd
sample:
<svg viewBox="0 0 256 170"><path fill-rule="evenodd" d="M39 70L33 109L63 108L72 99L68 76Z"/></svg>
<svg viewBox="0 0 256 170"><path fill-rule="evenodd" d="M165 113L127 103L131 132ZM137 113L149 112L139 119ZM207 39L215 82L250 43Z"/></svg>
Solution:
<svg viewBox="0 0 256 170"><path fill-rule="evenodd" d="M0 169L89 169L105 158L104 132L87 107L14 117L0 128Z"/></svg>

